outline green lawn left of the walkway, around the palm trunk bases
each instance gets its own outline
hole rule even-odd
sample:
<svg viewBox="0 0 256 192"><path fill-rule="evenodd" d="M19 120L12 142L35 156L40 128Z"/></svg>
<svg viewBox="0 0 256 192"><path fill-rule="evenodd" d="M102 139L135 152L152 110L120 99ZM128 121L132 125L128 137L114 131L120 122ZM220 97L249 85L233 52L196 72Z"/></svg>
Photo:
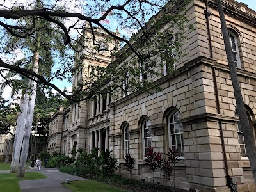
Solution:
<svg viewBox="0 0 256 192"><path fill-rule="evenodd" d="M35 180L35 179L44 179L45 175L37 172L25 173L25 177L16 177L17 173L3 173L0 174L0 191L6 192L20 192L20 180Z"/></svg>

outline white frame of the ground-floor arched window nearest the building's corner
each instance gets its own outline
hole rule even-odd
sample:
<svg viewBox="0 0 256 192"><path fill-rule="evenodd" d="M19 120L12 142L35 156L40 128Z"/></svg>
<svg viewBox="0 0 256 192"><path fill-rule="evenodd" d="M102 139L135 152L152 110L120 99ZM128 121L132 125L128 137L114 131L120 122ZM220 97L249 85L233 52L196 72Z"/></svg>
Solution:
<svg viewBox="0 0 256 192"><path fill-rule="evenodd" d="M178 117L177 118L177 121L175 122L175 114L178 113ZM173 118L172 118L173 117ZM181 150L183 148L182 151L180 151L180 154L181 156L179 156L179 159L185 159L185 152L184 152L184 137L183 137L183 126L182 126L182 123L179 121L181 117L181 114L179 112L179 110L174 110L172 111L169 115L168 115L168 118L167 118L167 132L168 132L168 147L169 148L173 148L175 147L177 149L178 146L181 146ZM171 120L173 119L173 122L171 122ZM173 131L175 131L174 127L175 125L174 124L179 124L179 126L181 125L182 127L182 132L173 132L171 131L171 124L173 124ZM179 129L180 130L180 129ZM177 144L177 139L176 139L176 136L177 135L180 135L181 134L181 138L180 138L180 141L181 143ZM175 136L175 145L173 145L172 143L172 136ZM183 155L183 156L182 156Z"/></svg>

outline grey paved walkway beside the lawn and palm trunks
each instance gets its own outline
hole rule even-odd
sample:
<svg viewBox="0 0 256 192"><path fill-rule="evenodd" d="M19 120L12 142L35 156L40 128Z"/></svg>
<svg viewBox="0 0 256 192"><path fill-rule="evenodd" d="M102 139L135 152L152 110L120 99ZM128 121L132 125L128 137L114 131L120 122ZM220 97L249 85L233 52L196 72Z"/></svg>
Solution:
<svg viewBox="0 0 256 192"><path fill-rule="evenodd" d="M9 173L10 171L0 171L0 173ZM39 180L22 180L19 182L22 192L71 192L69 189L64 188L61 183L66 179L72 180L86 180L82 177L62 173L56 170L56 168L41 168L40 171L36 171L36 168L26 170L26 172L39 172L46 175L47 178Z"/></svg>

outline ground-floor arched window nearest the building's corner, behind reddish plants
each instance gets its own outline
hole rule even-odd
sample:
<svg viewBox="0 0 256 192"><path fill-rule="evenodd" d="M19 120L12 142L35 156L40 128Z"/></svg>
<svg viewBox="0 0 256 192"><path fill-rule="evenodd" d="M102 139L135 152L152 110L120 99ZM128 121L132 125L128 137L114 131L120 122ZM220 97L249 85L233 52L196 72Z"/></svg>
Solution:
<svg viewBox="0 0 256 192"><path fill-rule="evenodd" d="M173 111L168 118L168 136L169 147L175 147L178 150L178 155L184 157L184 143L183 143L183 127L180 120L180 112Z"/></svg>

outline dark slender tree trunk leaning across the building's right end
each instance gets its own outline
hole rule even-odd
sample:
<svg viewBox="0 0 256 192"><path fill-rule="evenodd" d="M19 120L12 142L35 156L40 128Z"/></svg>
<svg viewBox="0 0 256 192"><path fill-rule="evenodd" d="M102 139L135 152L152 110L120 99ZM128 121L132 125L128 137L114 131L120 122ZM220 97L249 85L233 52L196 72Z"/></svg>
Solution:
<svg viewBox="0 0 256 192"><path fill-rule="evenodd" d="M244 107L244 101L243 101L243 97L242 97L242 93L241 93L241 89L240 89L240 85L239 85L239 81L236 73L236 65L234 63L234 58L232 55L232 49L231 49L230 40L228 36L227 24L226 24L225 15L223 12L223 6L221 4L221 0L216 0L216 3L218 6L218 12L220 13L221 29L223 33L224 44L225 44L225 49L226 49L226 54L228 59L230 77L231 77L231 81L234 88L234 94L235 94L236 105L237 105L237 113L239 115L239 120L242 125L241 129L244 134L244 143L246 145L245 146L246 152L251 164L254 182L256 183L256 145L255 145L255 141L253 140L253 134L251 132L249 120L246 115L246 109Z"/></svg>

